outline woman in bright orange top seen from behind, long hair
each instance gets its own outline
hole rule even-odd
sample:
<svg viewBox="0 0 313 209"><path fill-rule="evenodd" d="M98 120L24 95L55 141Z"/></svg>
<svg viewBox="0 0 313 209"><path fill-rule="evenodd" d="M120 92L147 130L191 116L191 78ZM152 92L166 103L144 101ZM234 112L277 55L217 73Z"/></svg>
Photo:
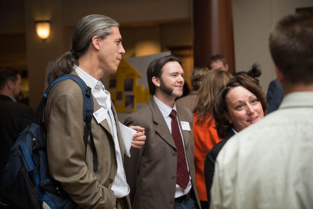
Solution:
<svg viewBox="0 0 313 209"><path fill-rule="evenodd" d="M233 76L226 71L210 70L203 78L198 92L197 105L193 110L193 137L195 152L196 186L202 208L208 208L204 183L204 159L206 153L221 138L218 137L212 117L213 98L218 89L225 85Z"/></svg>

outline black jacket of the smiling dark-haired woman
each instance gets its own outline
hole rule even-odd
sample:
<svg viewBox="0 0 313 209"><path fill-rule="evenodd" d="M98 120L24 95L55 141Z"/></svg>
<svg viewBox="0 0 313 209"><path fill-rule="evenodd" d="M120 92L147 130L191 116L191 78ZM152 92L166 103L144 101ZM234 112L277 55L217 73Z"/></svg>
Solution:
<svg viewBox="0 0 313 209"><path fill-rule="evenodd" d="M230 137L232 137L234 134L235 133L233 132L233 129L229 129L226 137L222 141L218 142L215 146L213 146L213 148L208 152L205 158L204 178L205 178L205 187L207 189L208 205L210 205L211 201L210 190L213 181L215 160L217 158L219 151L221 151L227 140L230 139Z"/></svg>

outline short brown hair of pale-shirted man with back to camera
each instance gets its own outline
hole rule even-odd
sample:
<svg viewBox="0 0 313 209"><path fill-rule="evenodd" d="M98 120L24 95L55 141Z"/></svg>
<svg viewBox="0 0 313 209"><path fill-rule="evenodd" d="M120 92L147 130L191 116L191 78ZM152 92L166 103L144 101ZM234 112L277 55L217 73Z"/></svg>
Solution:
<svg viewBox="0 0 313 209"><path fill-rule="evenodd" d="M313 83L313 15L298 13L278 22L269 36L275 65L290 84Z"/></svg>

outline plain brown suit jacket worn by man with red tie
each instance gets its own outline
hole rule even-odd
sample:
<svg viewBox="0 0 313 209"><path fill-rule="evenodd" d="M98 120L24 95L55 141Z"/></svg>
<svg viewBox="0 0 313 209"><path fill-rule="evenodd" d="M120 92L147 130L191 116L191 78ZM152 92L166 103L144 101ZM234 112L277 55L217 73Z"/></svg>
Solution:
<svg viewBox="0 0 313 209"><path fill-rule="evenodd" d="M187 121L190 131L182 130L192 188L200 208L195 184L193 115L186 107L177 105L177 117ZM141 149L131 148L131 158L125 158L127 182L134 209L172 209L176 189L177 150L171 132L153 98L146 106L128 115L127 126L145 128L146 141Z"/></svg>

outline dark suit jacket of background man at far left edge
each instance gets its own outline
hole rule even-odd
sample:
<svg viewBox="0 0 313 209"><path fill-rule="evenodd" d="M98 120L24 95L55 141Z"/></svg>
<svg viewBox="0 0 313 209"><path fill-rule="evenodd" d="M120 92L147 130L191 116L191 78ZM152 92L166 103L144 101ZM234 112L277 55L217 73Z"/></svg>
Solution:
<svg viewBox="0 0 313 209"><path fill-rule="evenodd" d="M11 147L18 135L31 122L33 113L29 106L14 102L9 96L0 94L0 179Z"/></svg>

